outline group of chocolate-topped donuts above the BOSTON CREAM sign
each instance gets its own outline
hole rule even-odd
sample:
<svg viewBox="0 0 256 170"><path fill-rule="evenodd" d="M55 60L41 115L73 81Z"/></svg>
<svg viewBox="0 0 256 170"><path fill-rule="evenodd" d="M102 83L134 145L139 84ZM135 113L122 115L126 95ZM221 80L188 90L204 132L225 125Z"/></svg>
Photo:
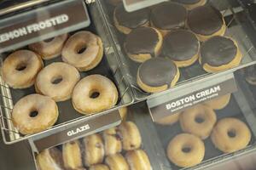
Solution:
<svg viewBox="0 0 256 170"><path fill-rule="evenodd" d="M224 71L241 62L237 42L224 37L224 16L207 0L173 0L132 13L125 11L123 3L114 2L114 25L125 35L127 56L141 64L137 84L145 92L172 88L179 68L196 61L207 72Z"/></svg>

